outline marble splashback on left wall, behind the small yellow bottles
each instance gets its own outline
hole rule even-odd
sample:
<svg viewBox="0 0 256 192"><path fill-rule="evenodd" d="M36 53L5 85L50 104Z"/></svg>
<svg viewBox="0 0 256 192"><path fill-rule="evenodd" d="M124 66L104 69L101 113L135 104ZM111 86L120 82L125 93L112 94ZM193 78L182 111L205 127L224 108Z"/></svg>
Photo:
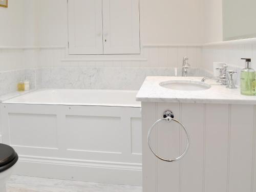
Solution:
<svg viewBox="0 0 256 192"><path fill-rule="evenodd" d="M36 88L35 69L20 69L0 72L0 95L17 91L20 79L29 79L30 89Z"/></svg>

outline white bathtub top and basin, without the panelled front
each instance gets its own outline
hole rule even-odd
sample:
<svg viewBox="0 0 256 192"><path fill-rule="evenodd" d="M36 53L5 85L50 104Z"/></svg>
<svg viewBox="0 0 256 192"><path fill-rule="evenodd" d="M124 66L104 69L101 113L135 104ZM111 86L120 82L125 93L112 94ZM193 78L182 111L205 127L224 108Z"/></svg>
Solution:
<svg viewBox="0 0 256 192"><path fill-rule="evenodd" d="M138 91L42 89L9 99L4 103L100 105L140 107Z"/></svg>

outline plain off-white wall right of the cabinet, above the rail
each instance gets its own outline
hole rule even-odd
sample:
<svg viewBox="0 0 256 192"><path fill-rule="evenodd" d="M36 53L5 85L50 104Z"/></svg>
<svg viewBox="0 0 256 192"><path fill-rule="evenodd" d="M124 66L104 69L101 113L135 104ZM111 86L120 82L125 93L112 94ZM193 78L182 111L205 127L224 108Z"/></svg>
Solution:
<svg viewBox="0 0 256 192"><path fill-rule="evenodd" d="M143 44L200 44L203 0L141 0Z"/></svg>

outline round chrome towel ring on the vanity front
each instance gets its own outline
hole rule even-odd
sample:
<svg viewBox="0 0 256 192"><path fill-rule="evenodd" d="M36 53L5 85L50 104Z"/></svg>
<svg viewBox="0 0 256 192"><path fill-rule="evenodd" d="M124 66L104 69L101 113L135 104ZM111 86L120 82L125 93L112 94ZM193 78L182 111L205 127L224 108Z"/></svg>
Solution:
<svg viewBox="0 0 256 192"><path fill-rule="evenodd" d="M165 159L165 158L160 157L159 155L157 155L157 153L153 150L153 148L152 148L152 146L151 146L151 142L150 142L151 132L152 132L154 126L155 126L157 123L161 122L161 121L167 121L167 122L175 121L175 122L179 123L179 124L182 126L183 130L184 130L185 133L186 133L186 136L187 136L187 145L186 145L185 151L181 154L181 156L179 156L179 157L177 157L177 158L175 158L175 159ZM163 160L163 161L168 161L168 162L174 162L174 161L178 161L178 160L182 159L182 158L186 155L186 153L187 153L187 151L188 151L189 142L190 142L190 139L189 139L189 134L188 134L188 132L187 132L187 130L186 130L186 127L185 127L180 121L174 119L174 114L173 114L173 112L172 112L172 111L169 111L169 110L164 112L164 114L163 114L163 119L159 119L159 120L157 120L155 123L153 123L153 125L150 127L150 130L148 131L148 134L147 134L147 144L148 144L148 146L150 147L150 150L152 151L152 153L153 153L158 159L161 159L161 160Z"/></svg>

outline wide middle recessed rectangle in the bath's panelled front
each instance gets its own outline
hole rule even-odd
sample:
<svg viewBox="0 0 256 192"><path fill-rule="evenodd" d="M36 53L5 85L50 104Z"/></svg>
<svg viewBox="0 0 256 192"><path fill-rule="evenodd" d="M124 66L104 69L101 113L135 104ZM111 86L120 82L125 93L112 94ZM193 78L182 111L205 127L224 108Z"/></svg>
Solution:
<svg viewBox="0 0 256 192"><path fill-rule="evenodd" d="M122 153L120 117L66 116L67 150Z"/></svg>

